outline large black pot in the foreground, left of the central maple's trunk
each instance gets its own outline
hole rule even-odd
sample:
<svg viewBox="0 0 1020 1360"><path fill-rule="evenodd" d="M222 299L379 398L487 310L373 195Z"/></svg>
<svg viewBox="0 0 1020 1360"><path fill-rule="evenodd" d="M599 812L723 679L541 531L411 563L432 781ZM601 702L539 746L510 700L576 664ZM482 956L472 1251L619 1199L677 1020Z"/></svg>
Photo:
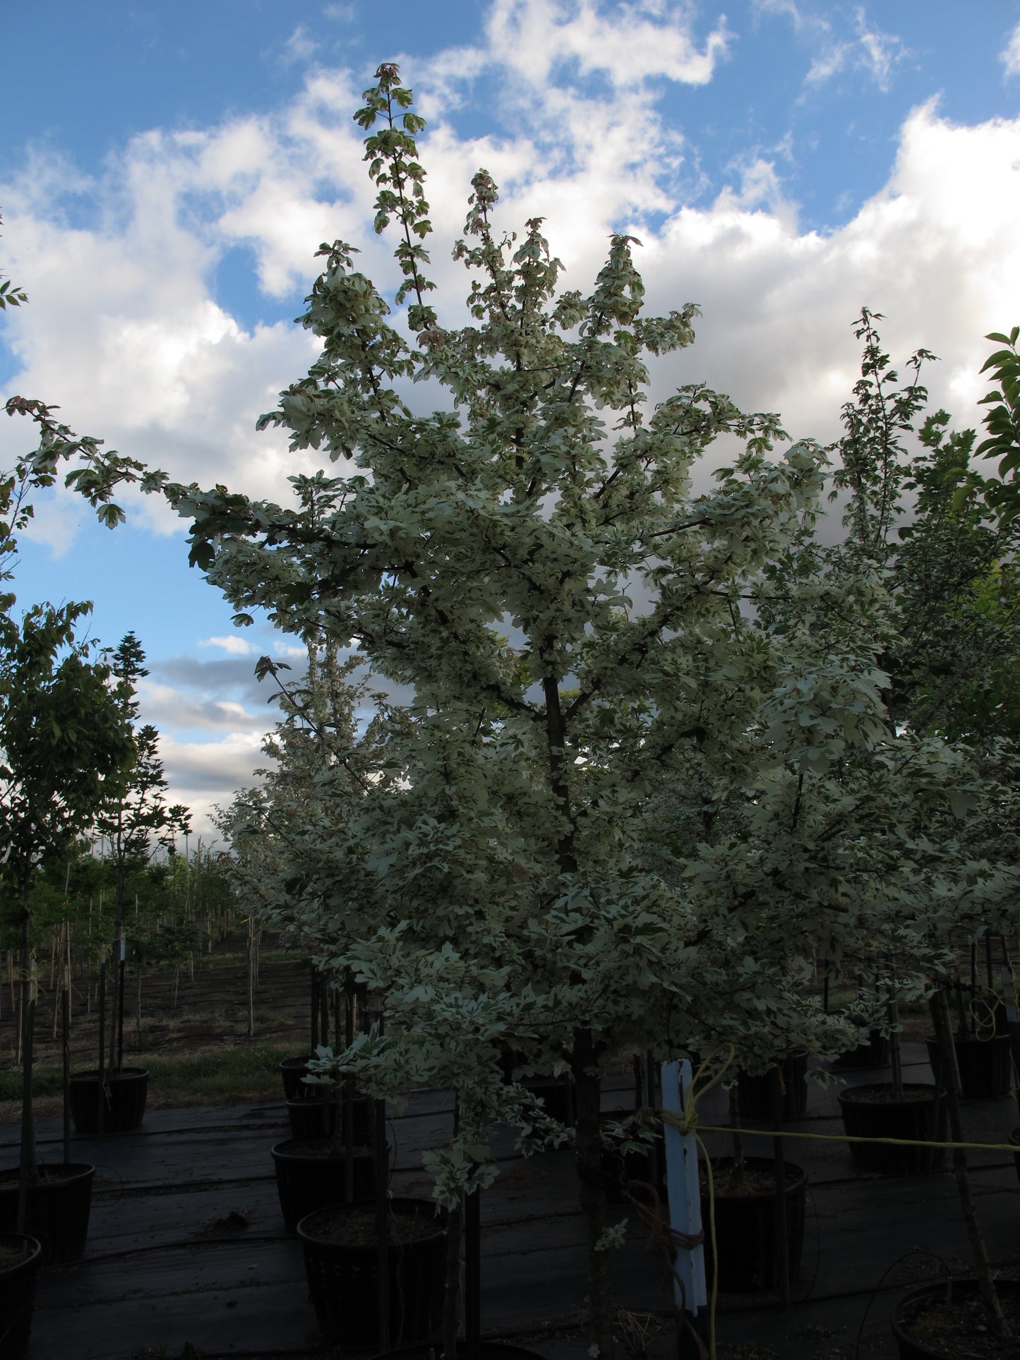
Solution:
<svg viewBox="0 0 1020 1360"><path fill-rule="evenodd" d="M431 1200L388 1201L389 1330L396 1345L442 1327L446 1223ZM379 1344L375 1202L317 1209L298 1224L316 1318L335 1345Z"/></svg>

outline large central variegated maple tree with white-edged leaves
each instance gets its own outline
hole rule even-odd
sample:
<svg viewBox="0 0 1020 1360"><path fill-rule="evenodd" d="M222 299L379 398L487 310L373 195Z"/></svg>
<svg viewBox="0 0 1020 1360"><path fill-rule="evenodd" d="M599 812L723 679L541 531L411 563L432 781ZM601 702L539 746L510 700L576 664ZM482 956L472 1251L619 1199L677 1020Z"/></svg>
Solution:
<svg viewBox="0 0 1020 1360"><path fill-rule="evenodd" d="M265 608L390 687L347 764L325 760L321 813L277 868L320 966L386 996L385 1034L324 1066L389 1095L457 1091L458 1136L434 1159L452 1202L491 1174L486 1114L551 1136L502 1059L573 1076L608 1356L600 1072L635 1049L845 1044L806 960L919 947L922 898L940 872L956 883L928 832L952 823L959 771L889 730L881 581L845 574L838 624L816 628L832 581L770 573L811 533L823 450L770 458L778 419L700 384L649 409L649 358L692 341L696 307L643 314L631 237L589 294L564 291L540 219L500 234L480 170L454 246L468 320L442 324L423 121L394 65L377 80L356 118L375 228L397 231L398 317L350 246L324 245L301 318L322 352L261 422L339 475L294 479L294 507L166 490L237 622ZM442 404L422 413L412 382ZM733 462L695 494L721 437Z"/></svg>

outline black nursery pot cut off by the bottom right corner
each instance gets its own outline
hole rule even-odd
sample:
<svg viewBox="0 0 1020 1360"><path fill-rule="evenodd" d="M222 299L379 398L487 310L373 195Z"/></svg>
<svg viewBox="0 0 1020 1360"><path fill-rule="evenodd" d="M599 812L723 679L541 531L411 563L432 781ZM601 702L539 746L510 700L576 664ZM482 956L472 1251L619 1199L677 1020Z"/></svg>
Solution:
<svg viewBox="0 0 1020 1360"><path fill-rule="evenodd" d="M1013 1336L998 1340L985 1322L978 1281L922 1284L892 1310L899 1360L1015 1360L1020 1336L1020 1281L997 1280L996 1291Z"/></svg>

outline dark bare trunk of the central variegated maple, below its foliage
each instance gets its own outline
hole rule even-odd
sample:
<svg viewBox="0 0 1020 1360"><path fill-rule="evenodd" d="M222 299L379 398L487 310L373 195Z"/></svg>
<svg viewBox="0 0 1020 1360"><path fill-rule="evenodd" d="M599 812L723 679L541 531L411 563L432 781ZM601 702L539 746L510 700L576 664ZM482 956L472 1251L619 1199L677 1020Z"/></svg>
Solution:
<svg viewBox="0 0 1020 1360"><path fill-rule="evenodd" d="M598 1122L598 1069L590 1030L574 1035L573 1073L577 1091L577 1176L588 1242L588 1334L598 1360L613 1360L612 1272L608 1251L596 1250L605 1232L602 1136ZM596 1352L592 1352L593 1355Z"/></svg>

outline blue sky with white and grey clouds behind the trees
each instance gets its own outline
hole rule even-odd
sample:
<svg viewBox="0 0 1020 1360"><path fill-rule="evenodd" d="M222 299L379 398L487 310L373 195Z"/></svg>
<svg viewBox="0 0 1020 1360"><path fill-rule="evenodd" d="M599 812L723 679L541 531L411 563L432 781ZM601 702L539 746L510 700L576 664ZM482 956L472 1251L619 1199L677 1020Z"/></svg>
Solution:
<svg viewBox="0 0 1020 1360"><path fill-rule="evenodd" d="M174 477L287 494L294 460L254 419L311 358L291 325L324 238L384 288L350 114L400 60L434 275L456 320L458 234L479 163L505 220L548 219L568 286L609 231L643 241L650 305L698 301L699 341L661 394L706 378L832 438L855 371L850 321L888 317L904 358L941 356L934 398L972 423L989 329L1020 321L1020 5L985 0L37 0L4 16L0 386ZM24 445L0 428L0 465ZM91 598L135 628L175 796L201 813L258 763L252 679L294 639L243 634L154 502L110 534L67 496L38 506L23 602Z"/></svg>

